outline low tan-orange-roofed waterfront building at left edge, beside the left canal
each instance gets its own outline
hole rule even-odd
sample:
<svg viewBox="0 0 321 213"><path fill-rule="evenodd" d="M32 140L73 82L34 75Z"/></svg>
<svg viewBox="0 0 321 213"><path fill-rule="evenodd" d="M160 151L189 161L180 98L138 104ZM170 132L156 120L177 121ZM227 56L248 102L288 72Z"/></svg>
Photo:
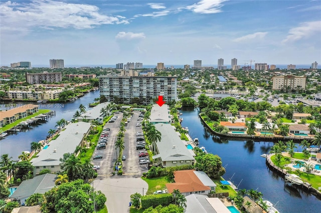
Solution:
<svg viewBox="0 0 321 213"><path fill-rule="evenodd" d="M34 104L25 104L7 111L0 111L0 126L15 122L16 120L27 117L37 111L39 111L39 105Z"/></svg>

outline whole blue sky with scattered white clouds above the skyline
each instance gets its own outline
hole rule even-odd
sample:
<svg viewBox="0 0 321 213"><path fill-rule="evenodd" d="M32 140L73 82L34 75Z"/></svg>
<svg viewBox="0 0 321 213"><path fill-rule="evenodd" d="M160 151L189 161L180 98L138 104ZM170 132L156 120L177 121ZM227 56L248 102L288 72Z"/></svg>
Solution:
<svg viewBox="0 0 321 213"><path fill-rule="evenodd" d="M321 62L320 0L0 3L0 64Z"/></svg>

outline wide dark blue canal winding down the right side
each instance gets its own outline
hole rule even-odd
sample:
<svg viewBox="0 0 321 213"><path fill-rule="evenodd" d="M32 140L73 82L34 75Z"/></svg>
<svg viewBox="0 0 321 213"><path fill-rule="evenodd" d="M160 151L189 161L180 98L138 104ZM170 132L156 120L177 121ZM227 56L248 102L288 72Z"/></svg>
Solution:
<svg viewBox="0 0 321 213"><path fill-rule="evenodd" d="M280 212L319 212L316 206L321 206L321 200L302 190L284 186L284 180L266 167L265 158L260 155L267 153L273 142L215 137L201 123L198 109L180 111L184 118L182 126L189 128L193 139L199 138L199 146L222 158L225 179L233 176L231 181L238 188L261 191L263 198L277 203L275 207Z"/></svg>

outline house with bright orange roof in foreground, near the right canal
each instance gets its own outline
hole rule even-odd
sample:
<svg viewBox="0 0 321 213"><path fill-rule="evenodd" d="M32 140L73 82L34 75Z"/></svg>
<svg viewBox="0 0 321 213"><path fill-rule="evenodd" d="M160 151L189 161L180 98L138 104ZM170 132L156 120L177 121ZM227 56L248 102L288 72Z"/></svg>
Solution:
<svg viewBox="0 0 321 213"><path fill-rule="evenodd" d="M193 193L209 194L211 187L204 185L194 171L194 169L174 171L175 182L166 184L169 193L179 189L185 196Z"/></svg>

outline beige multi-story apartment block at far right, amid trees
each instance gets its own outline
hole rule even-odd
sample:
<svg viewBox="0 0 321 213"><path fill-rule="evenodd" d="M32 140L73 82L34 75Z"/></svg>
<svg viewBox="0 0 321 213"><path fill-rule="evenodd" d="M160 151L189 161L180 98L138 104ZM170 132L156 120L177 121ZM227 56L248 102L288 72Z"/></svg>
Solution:
<svg viewBox="0 0 321 213"><path fill-rule="evenodd" d="M290 90L290 89L304 89L305 88L306 75L294 76L294 75L273 75L272 76L272 89L277 90Z"/></svg>

